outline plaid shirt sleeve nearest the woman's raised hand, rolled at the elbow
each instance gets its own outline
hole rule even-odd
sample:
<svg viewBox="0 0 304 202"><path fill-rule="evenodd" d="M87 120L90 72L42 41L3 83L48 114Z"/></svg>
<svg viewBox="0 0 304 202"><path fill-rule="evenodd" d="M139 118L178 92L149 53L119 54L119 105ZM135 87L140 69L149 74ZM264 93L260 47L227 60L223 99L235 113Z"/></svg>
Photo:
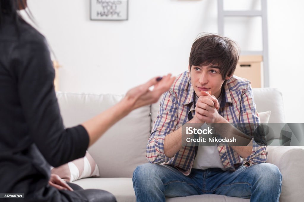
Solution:
<svg viewBox="0 0 304 202"><path fill-rule="evenodd" d="M177 99L174 97L172 89L170 89L164 94L160 102L160 110L149 136L146 157L150 163L167 163L171 159L164 153L164 140L166 135L176 129L178 122L177 104Z"/></svg>

